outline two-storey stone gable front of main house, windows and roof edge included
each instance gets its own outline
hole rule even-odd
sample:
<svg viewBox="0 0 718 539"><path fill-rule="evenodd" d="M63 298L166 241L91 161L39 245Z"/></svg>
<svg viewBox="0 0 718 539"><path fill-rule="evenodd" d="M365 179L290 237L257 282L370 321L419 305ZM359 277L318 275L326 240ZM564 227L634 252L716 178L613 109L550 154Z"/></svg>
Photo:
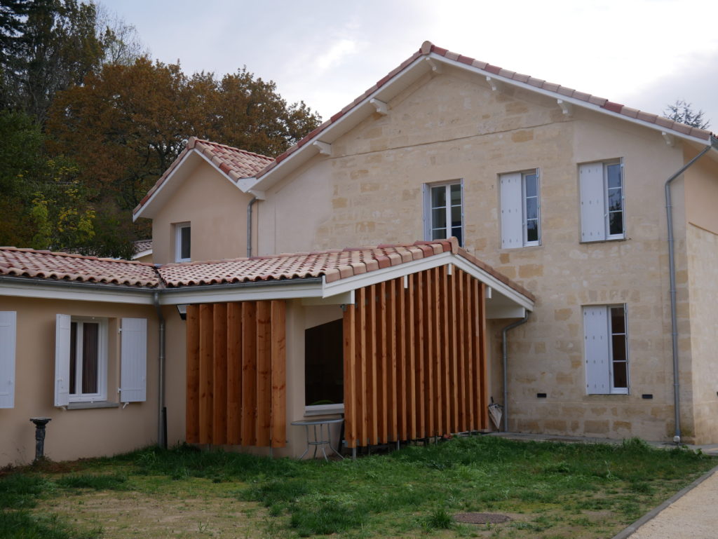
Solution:
<svg viewBox="0 0 718 539"><path fill-rule="evenodd" d="M505 373L516 318L488 324L510 431L714 443L717 156L708 131L426 42L236 187L253 255L454 236L532 291Z"/></svg>

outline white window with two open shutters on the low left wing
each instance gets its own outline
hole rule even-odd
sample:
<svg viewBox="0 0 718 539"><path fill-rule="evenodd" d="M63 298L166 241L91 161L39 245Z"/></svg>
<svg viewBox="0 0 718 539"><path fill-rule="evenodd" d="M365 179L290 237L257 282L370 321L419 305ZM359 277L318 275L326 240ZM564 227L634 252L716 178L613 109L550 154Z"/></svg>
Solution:
<svg viewBox="0 0 718 539"><path fill-rule="evenodd" d="M57 314L55 323L55 406L108 400L108 319ZM144 318L123 318L120 339L120 400L146 400ZM116 359L115 359L116 361Z"/></svg>

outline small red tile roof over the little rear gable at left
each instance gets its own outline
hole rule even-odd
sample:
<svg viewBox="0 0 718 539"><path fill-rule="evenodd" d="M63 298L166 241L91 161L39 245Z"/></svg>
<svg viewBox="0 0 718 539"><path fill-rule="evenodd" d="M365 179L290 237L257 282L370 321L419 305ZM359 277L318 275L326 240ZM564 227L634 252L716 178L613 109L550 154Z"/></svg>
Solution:
<svg viewBox="0 0 718 539"><path fill-rule="evenodd" d="M164 184L169 175L172 174L172 171L174 171L180 162L182 162L185 155L192 150L197 150L200 154L207 157L210 161L212 161L215 167L227 174L228 177L230 177L235 183L241 178L253 177L259 171L266 168L268 164L274 161L274 158L266 155L255 154L251 151L233 148L232 146L226 146L225 144L218 144L216 142L203 141L194 136L190 136L185 149L182 150L182 153L179 156L177 156L177 159L172 161L172 164L170 164L167 170L164 171L164 174L159 177L157 182L155 182L152 188L149 189L144 198L140 200L139 205L137 205L137 207L133 210L133 213L138 212L139 209L143 207L152 197L152 195L157 192L157 189L162 187L162 184Z"/></svg>

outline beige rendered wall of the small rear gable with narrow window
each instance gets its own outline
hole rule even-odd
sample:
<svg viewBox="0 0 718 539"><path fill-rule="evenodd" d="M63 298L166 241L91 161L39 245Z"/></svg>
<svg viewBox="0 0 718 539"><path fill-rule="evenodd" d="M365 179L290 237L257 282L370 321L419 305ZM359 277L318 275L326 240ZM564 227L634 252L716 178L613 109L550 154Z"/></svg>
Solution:
<svg viewBox="0 0 718 539"><path fill-rule="evenodd" d="M174 225L192 225L192 261L240 258L247 254L245 194L201 160L152 220L152 261L174 262Z"/></svg>

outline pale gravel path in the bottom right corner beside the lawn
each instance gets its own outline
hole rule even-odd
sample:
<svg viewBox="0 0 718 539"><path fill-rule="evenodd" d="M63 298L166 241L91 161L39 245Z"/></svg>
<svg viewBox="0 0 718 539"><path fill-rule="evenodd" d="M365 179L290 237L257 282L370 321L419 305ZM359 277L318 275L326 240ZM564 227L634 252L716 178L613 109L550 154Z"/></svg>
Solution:
<svg viewBox="0 0 718 539"><path fill-rule="evenodd" d="M630 539L716 539L718 471L668 505L630 535Z"/></svg>

